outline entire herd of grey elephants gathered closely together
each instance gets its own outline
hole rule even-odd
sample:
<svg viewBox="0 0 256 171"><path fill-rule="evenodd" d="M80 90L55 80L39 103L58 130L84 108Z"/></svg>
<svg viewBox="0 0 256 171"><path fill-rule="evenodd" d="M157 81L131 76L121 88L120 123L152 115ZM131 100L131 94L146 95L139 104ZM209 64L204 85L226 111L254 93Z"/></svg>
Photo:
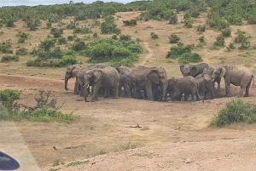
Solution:
<svg viewBox="0 0 256 171"><path fill-rule="evenodd" d="M76 78L74 94L84 96L84 101L89 102L88 94L92 95L91 101L104 97L118 98L124 89L128 98L144 100L200 100L199 94L207 94L215 98L214 84L218 83L220 89L221 78L224 77L225 93L230 96L230 84L240 86L239 96L248 96L249 88L254 81L253 72L246 66L218 66L215 69L207 63L197 65L181 65L181 78L167 78L166 70L162 67L137 66L129 69L125 66L114 68L112 66L90 65L68 66L65 75L65 89L69 78ZM91 86L91 91L90 91Z"/></svg>

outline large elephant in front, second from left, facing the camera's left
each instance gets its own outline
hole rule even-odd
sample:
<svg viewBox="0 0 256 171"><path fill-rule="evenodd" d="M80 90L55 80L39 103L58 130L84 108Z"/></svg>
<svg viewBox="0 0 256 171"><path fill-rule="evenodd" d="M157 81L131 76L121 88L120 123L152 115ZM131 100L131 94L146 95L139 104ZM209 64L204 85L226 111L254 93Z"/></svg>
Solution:
<svg viewBox="0 0 256 171"><path fill-rule="evenodd" d="M109 94L109 88L113 88L113 98L118 98L119 72L112 66L94 68L84 72L84 101L87 100L87 85L93 84L92 102L98 100L97 92L99 88L105 88L105 94ZM105 96L106 97L106 96Z"/></svg>

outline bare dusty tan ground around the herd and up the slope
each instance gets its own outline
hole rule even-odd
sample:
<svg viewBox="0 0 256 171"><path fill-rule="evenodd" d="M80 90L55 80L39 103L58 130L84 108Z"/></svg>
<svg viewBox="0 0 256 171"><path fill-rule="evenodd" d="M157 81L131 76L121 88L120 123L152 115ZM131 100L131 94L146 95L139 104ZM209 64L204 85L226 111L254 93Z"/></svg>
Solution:
<svg viewBox="0 0 256 171"><path fill-rule="evenodd" d="M127 20L137 16L137 13L117 15ZM197 24L200 24L203 18L198 20ZM151 31L165 34L173 28L148 21L138 23L134 29L122 26L121 22L118 20L123 32L134 34L137 30L136 37L143 40L146 53L137 65L164 66L168 77L181 77L177 62L162 63L170 48L164 36L157 40L160 46L155 46L155 40L148 36ZM176 27L180 29L175 32L180 32L186 40L188 30ZM140 31L143 33L140 34ZM247 26L247 32L250 31L255 31L255 28ZM209 31L205 34L208 46L214 41L210 38L212 35L218 33ZM219 55L234 55L221 50L211 52L208 48L203 49L201 54L212 65L219 65ZM238 54L243 53L236 52L235 59ZM227 58L226 63L230 61L232 64L233 60ZM246 65L247 60L241 63ZM212 117L227 101L234 99L222 97L223 83L220 92L216 92L222 98L215 100L155 102L120 97L85 103L83 98L72 92L74 80L69 82L70 90L64 90L65 68L28 69L13 64L1 67L0 88L20 90L20 103L33 105L38 89L50 90L58 99L58 104L64 102L61 111L80 116L71 124L1 122L0 149L18 159L20 170L256 170L255 125L208 127ZM250 63L250 68L254 70L253 63ZM236 87L231 89L234 95L238 91ZM255 102L255 96L256 89L251 88L250 97L244 100ZM84 161L88 162L79 164ZM67 164L77 166L67 167Z"/></svg>

